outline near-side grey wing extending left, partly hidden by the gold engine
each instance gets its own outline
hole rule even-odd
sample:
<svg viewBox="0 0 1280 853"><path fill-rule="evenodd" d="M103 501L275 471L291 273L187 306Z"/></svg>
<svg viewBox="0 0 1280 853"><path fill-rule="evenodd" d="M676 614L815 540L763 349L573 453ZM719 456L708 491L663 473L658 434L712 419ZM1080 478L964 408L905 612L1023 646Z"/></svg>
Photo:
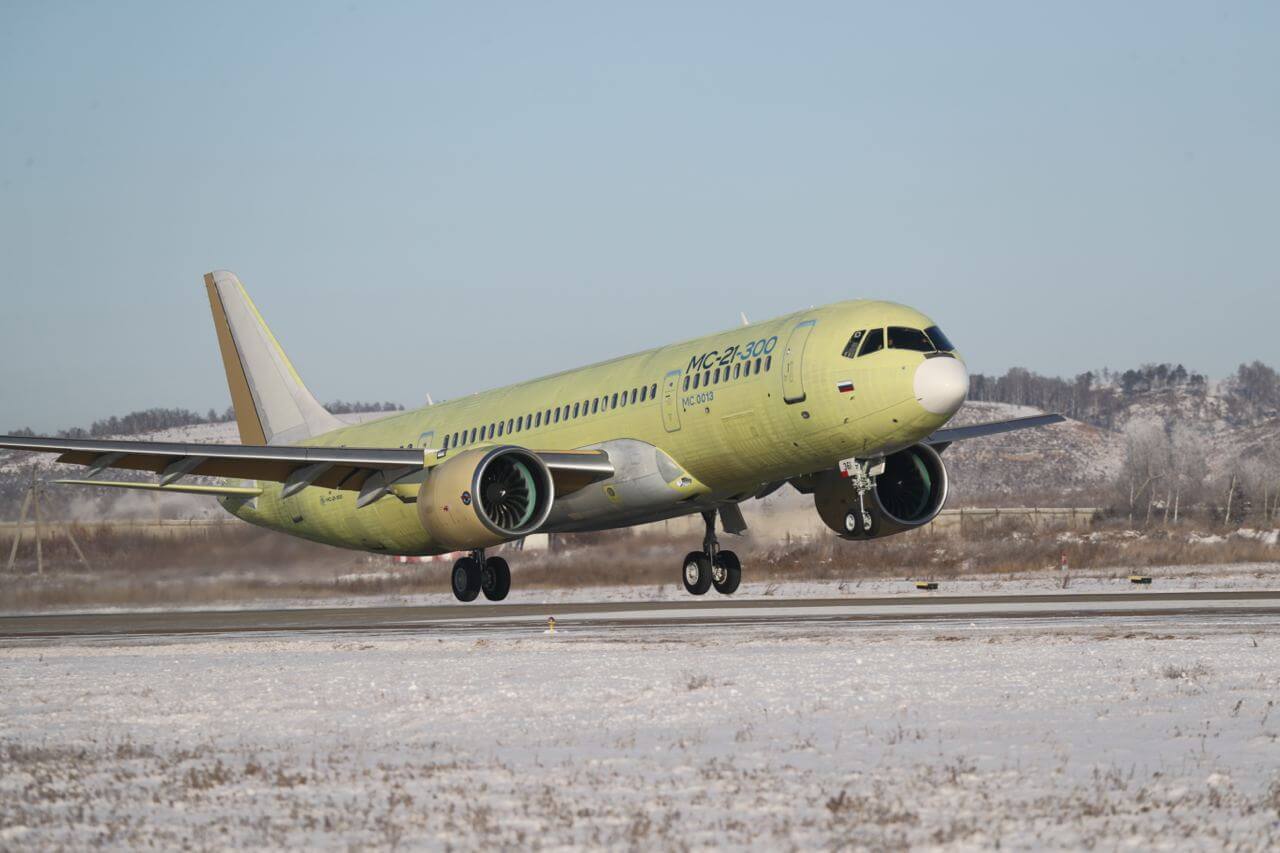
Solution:
<svg viewBox="0 0 1280 853"><path fill-rule="evenodd" d="M20 435L0 435L0 448L58 453L59 462L88 466L87 479L76 480L77 484L116 488L159 485L165 491L178 491L174 484L184 476L221 476L284 483L284 497L297 494L308 485L360 492L357 506L372 503L397 482L422 473L438 460L436 451L426 448L187 444ZM550 469L561 493L613 475L613 466L603 451L539 452L539 456ZM151 471L160 475L160 483L93 480L108 469ZM205 493L232 492L219 488Z"/></svg>

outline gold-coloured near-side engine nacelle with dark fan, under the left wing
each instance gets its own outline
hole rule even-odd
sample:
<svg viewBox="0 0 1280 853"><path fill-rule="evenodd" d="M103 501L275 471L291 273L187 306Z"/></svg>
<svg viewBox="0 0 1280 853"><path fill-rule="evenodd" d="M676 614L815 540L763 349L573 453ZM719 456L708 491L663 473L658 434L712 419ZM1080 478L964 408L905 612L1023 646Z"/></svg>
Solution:
<svg viewBox="0 0 1280 853"><path fill-rule="evenodd" d="M433 544L471 551L534 533L554 500L552 474L535 453L485 447L431 469L417 493L417 517Z"/></svg>

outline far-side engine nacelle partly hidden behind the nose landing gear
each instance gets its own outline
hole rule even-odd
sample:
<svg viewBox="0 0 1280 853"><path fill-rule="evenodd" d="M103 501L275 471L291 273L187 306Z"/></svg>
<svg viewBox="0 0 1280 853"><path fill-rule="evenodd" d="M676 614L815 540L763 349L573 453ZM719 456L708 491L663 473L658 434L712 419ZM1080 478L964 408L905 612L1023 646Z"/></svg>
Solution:
<svg viewBox="0 0 1280 853"><path fill-rule="evenodd" d="M884 471L864 496L870 528L863 523L858 491L836 471L815 478L813 502L823 523L845 539L877 539L928 524L947 502L947 469L928 444L884 457Z"/></svg>

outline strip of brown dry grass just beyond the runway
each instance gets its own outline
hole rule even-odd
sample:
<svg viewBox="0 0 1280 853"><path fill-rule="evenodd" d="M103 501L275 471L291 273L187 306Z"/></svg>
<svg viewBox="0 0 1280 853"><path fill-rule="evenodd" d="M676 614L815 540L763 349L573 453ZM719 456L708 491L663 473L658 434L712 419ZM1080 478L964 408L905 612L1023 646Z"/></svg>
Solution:
<svg viewBox="0 0 1280 853"><path fill-rule="evenodd" d="M765 537L723 537L753 580L951 578L961 574L1043 573L1065 553L1073 571L1169 565L1274 562L1280 548L1226 537L1197 542L1187 529L1135 533L1100 526L1064 540L1060 530L1034 530L1018 519L970 525L961 535L927 530L872 542L835 535L794 543ZM360 596L448 593L448 562L399 565L388 557L314 544L250 525L230 525L186 538L81 530L91 561L86 570L65 539L46 543L42 575L33 549L20 549L15 576L0 580L0 608L216 606L268 599L334 599ZM558 537L554 552L507 555L516 583L530 588L678 583L676 566L700 535L614 530ZM0 558L8 542L0 538Z"/></svg>

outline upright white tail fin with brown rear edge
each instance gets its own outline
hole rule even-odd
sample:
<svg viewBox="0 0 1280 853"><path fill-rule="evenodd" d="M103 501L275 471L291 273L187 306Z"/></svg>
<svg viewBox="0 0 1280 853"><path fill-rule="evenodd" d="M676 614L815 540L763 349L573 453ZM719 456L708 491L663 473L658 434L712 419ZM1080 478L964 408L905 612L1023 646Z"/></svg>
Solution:
<svg viewBox="0 0 1280 853"><path fill-rule="evenodd" d="M343 426L302 384L234 273L205 275L242 444L289 444Z"/></svg>

